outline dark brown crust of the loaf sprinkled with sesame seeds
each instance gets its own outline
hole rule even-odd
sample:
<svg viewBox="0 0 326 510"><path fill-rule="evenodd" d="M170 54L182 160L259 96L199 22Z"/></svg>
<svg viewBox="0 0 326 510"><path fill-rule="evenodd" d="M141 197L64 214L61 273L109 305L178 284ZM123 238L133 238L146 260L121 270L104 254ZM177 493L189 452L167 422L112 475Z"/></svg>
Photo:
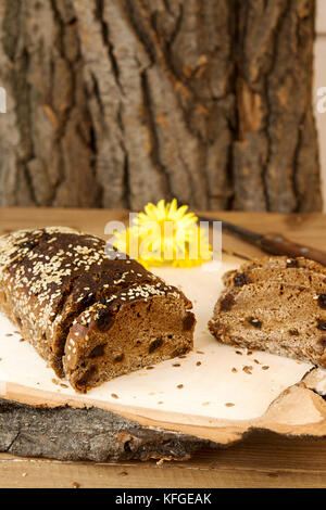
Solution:
<svg viewBox="0 0 326 510"><path fill-rule="evenodd" d="M51 227L0 238L0 309L61 378L73 322L136 285L160 285L164 295L177 293L185 309L192 306L136 260L105 251L105 241L95 235ZM99 317L97 328L103 330L104 323Z"/></svg>

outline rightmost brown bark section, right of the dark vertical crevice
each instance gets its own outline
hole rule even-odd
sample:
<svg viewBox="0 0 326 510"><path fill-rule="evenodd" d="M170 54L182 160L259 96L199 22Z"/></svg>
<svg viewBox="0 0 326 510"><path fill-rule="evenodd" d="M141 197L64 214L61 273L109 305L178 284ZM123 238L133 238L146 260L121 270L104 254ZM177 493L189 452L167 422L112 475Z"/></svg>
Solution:
<svg viewBox="0 0 326 510"><path fill-rule="evenodd" d="M321 207L313 119L314 2L240 2L237 73L236 207Z"/></svg>

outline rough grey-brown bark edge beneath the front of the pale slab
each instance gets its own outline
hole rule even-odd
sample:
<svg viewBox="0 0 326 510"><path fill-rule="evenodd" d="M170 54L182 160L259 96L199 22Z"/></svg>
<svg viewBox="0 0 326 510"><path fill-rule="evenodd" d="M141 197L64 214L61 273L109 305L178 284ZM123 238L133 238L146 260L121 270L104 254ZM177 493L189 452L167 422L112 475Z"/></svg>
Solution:
<svg viewBox="0 0 326 510"><path fill-rule="evenodd" d="M240 439L241 435L239 435ZM32 407L0 398L0 451L58 460L188 460L210 441L147 429L98 408Z"/></svg>

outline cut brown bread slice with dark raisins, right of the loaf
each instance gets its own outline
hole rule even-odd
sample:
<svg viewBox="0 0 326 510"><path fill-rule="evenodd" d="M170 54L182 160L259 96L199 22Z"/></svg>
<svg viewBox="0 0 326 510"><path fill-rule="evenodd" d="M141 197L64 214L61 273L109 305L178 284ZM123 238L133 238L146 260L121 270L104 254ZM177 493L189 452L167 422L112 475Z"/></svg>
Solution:
<svg viewBox="0 0 326 510"><path fill-rule="evenodd" d="M326 367L326 268L264 257L224 276L209 323L223 343Z"/></svg>

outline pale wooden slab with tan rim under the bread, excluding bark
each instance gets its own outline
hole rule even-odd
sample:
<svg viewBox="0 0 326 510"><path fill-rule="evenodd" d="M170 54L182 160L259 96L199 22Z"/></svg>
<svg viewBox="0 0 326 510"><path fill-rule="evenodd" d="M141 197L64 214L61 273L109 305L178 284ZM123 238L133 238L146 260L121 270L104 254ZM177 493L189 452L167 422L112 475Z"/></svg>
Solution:
<svg viewBox="0 0 326 510"><path fill-rule="evenodd" d="M323 403L298 386L313 369L311 365L223 345L209 332L208 322L223 289L222 276L236 266L235 260L226 258L199 268L155 270L193 303L198 321L193 352L116 378L87 395L58 380L35 349L22 342L20 332L0 316L0 397L34 407L97 407L145 426L218 444L237 441L240 433L252 428L325 434ZM325 381L326 385L326 371L318 373L321 384Z"/></svg>

